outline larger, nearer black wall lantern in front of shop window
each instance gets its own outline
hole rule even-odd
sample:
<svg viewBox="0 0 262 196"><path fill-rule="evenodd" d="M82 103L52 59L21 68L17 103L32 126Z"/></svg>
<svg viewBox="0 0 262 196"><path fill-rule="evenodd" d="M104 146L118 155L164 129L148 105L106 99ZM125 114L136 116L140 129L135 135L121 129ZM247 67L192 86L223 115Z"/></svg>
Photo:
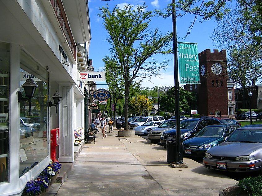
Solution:
<svg viewBox="0 0 262 196"><path fill-rule="evenodd" d="M22 93L20 91L18 91L18 96L17 96L17 100L18 102L20 101L28 101L28 105L29 105L29 115L31 114L31 99L34 96L35 90L38 87L38 85L34 82L34 80L32 78L29 78L25 81L25 83L23 85L21 85L21 87L24 87L24 92L25 92L25 97L23 97Z"/></svg>

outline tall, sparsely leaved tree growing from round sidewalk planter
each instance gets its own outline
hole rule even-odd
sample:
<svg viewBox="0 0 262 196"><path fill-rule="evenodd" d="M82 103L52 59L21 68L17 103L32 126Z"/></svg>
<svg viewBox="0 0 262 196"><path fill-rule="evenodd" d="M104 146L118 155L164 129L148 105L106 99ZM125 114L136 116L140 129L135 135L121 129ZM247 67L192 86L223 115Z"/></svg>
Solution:
<svg viewBox="0 0 262 196"><path fill-rule="evenodd" d="M150 30L149 23L155 16L152 11L146 11L146 6L127 5L123 9L115 6L112 11L109 6L99 9L99 16L104 20L108 41L112 45L111 54L119 63L121 74L125 81L125 129L128 127L128 97L130 86L136 78L150 78L160 74L167 61L153 60L156 54L172 52L172 33L162 35L158 29Z"/></svg>

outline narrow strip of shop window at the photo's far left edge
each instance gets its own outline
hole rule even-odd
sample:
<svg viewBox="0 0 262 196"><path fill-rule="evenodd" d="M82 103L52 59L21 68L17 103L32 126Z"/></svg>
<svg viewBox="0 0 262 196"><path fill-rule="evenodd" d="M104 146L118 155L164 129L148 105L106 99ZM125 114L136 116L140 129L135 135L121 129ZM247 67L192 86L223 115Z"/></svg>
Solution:
<svg viewBox="0 0 262 196"><path fill-rule="evenodd" d="M8 181L10 45L0 42L0 182Z"/></svg>

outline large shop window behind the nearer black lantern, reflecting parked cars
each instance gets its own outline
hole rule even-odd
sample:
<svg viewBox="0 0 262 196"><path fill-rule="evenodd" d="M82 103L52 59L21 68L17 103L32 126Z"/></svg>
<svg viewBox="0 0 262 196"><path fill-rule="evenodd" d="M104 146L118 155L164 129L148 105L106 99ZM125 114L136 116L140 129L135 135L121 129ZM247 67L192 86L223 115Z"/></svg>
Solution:
<svg viewBox="0 0 262 196"><path fill-rule="evenodd" d="M20 85L29 78L33 79L38 87L32 98L30 113L29 102L20 101L20 176L48 156L48 73L29 55L21 51ZM23 87L20 87L20 91L23 97L26 97Z"/></svg>

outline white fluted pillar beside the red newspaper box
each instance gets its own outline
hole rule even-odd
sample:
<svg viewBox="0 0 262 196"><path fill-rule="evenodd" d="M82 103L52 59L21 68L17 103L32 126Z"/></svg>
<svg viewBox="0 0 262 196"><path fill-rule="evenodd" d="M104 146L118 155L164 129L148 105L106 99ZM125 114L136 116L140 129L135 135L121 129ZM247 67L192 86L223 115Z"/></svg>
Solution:
<svg viewBox="0 0 262 196"><path fill-rule="evenodd" d="M59 104L59 162L74 161L74 132L73 132L73 84L60 84L59 92L62 97Z"/></svg>

